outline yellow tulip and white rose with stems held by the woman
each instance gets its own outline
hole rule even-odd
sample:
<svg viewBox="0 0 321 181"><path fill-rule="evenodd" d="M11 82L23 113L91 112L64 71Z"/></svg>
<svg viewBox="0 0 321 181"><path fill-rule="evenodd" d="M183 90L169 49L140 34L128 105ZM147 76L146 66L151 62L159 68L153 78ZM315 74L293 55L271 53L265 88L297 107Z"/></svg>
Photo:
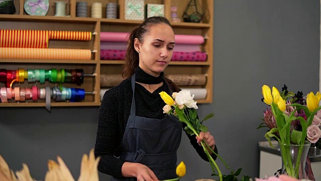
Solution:
<svg viewBox="0 0 321 181"><path fill-rule="evenodd" d="M179 93L175 92L172 96L169 96L166 92L159 93L161 98L166 103L163 108L164 114L174 115L181 122L185 123L187 126L184 128L186 132L190 135L199 136L200 132L207 132L208 128L203 125L203 122L213 117L213 113L207 115L203 120L200 120L197 115L197 102L194 101L194 95L191 96L191 92L187 90L182 90ZM232 170L230 174L223 175L219 166L212 158L211 153L214 153L223 163L224 165L230 169L230 167L226 164L226 162L212 150L207 143L204 141L201 142L201 146L206 153L211 168L213 170L212 176L218 176L220 181L237 181L237 176L241 173L242 168L239 168L236 172ZM211 152L211 153L210 153ZM216 172L217 171L217 172ZM174 179L170 179L174 180ZM243 175L241 178L242 181L250 180L249 176Z"/></svg>

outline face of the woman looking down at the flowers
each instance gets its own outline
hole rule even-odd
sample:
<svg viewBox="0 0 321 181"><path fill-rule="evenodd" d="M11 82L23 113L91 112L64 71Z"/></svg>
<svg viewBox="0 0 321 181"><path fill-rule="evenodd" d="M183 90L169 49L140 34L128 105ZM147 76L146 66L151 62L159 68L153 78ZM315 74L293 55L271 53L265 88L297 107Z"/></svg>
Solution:
<svg viewBox="0 0 321 181"><path fill-rule="evenodd" d="M159 76L172 59L175 36L167 24L150 27L143 42L135 39L135 49L139 51L139 67L153 76Z"/></svg>

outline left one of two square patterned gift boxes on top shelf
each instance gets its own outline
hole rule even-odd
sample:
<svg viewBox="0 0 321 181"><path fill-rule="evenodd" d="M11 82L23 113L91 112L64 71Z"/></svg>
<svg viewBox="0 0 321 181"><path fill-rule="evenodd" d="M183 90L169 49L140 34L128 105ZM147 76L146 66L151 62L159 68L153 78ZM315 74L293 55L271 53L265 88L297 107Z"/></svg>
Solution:
<svg viewBox="0 0 321 181"><path fill-rule="evenodd" d="M125 1L125 20L144 20L144 0Z"/></svg>

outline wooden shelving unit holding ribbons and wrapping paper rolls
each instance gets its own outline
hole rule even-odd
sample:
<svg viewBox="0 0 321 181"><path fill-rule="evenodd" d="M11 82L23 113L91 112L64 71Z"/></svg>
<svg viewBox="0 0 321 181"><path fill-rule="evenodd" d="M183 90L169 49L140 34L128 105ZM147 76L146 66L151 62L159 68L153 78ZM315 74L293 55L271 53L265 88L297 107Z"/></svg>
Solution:
<svg viewBox="0 0 321 181"><path fill-rule="evenodd" d="M96 50L92 54L91 60L56 60L56 59L0 59L0 68L18 70L24 69L84 69L85 73L95 74L93 77L85 77L84 83L81 85L63 83L66 87L84 88L86 92L95 93L85 96L82 102L52 102L51 106L99 106L100 105L100 74L121 73L121 68L124 63L122 60L100 60L100 32L130 32L142 21L124 20L124 5L125 0L85 0L88 2L88 17L90 17L90 7L94 2L102 3L102 17L107 3L118 3L119 19L106 18L80 18L76 17L76 0L63 0L68 3L68 13L70 17L56 17L55 1L50 1L49 11L46 16L30 16L24 12L24 3L26 0L16 0L15 6L17 12L15 15L0 15L0 29L16 29L16 30L58 30L58 31L90 31L95 32L90 41L62 41L50 40L49 48L75 48L75 49L91 49ZM58 1L58 0L57 0ZM59 0L61 1L61 0ZM82 0L84 1L84 0ZM171 20L171 7L178 7L178 17L182 17L185 8L190 0L145 0L145 4L164 4L165 17ZM214 2L212 0L199 0L205 16L201 23L174 23L172 22L174 32L176 34L186 35L202 35L206 37L206 41L201 45L202 51L207 52L208 60L206 62L188 62L188 61L172 61L169 67L165 70L165 74L207 74L207 82L205 86L195 88L206 88L207 98L197 100L198 103L212 103L213 99L213 16ZM35 83L28 83L26 80L23 83L14 83L13 87L31 87ZM57 84L45 82L38 83L37 86L43 88L45 86L55 86ZM5 86L0 83L0 87ZM187 86L193 88L193 86ZM186 87L185 87L186 88ZM0 103L0 107L45 107L45 101L34 103Z"/></svg>

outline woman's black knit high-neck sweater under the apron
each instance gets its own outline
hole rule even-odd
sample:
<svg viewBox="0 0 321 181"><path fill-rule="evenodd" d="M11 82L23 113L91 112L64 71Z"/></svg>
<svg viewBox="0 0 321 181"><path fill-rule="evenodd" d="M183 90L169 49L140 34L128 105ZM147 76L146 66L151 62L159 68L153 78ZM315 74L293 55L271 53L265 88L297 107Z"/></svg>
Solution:
<svg viewBox="0 0 321 181"><path fill-rule="evenodd" d="M135 74L136 81L141 83L156 84L164 81L163 73L159 77L154 77L138 68ZM153 93L148 92L143 86L136 83L136 116L163 119L166 116L166 114L163 113L163 107L166 104L158 94L162 91L169 93L165 83ZM122 138L130 115L131 100L131 79L127 78L104 94L99 109L95 144L95 156L101 157L98 170L115 177L122 177L121 167L125 161L118 157L121 153ZM183 128L185 126L186 125L183 125ZM190 136L187 134L187 136L198 154L204 160L208 161L203 148L197 143L195 135ZM216 146L214 151L217 152ZM215 154L212 155L213 158L216 159Z"/></svg>

